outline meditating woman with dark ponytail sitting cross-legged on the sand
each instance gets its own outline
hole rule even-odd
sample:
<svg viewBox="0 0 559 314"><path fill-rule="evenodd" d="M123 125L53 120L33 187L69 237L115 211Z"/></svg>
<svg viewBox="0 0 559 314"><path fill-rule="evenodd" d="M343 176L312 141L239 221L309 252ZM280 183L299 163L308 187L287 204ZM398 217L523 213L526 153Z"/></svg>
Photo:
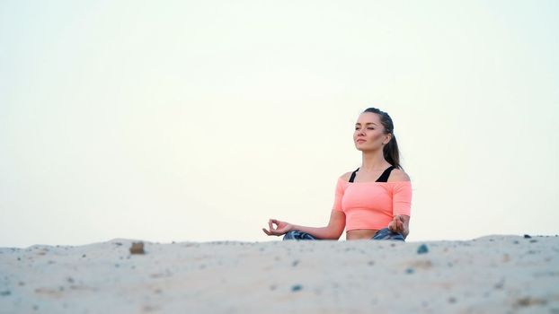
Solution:
<svg viewBox="0 0 559 314"><path fill-rule="evenodd" d="M328 225L299 226L271 219L269 236L283 240L402 240L409 234L412 185L400 166L392 118L376 108L363 111L355 124L361 166L338 179Z"/></svg>

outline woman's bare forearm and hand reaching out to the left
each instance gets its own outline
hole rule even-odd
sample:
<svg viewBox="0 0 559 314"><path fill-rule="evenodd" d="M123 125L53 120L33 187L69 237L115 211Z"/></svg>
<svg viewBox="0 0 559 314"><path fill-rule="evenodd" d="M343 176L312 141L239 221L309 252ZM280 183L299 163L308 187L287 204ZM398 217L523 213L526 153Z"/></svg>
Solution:
<svg viewBox="0 0 559 314"><path fill-rule="evenodd" d="M274 227L274 224L276 227ZM276 219L271 219L268 221L268 226L270 230L262 228L268 235L282 235L288 231L298 230L306 232L315 238L322 240L338 240L342 236L343 229L345 228L345 214L342 211L333 210L330 214L330 221L325 227L306 227L299 226L297 224L291 224L288 222L281 222Z"/></svg>

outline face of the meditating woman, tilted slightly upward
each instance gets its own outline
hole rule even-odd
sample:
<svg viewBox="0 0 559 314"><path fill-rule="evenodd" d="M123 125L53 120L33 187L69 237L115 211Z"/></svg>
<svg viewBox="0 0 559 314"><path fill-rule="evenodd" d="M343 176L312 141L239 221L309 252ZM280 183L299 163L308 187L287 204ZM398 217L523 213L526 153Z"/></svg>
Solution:
<svg viewBox="0 0 559 314"><path fill-rule="evenodd" d="M385 127L380 123L380 116L373 112L363 112L359 115L353 133L353 143L359 151L382 149L390 141L391 135L386 135Z"/></svg>

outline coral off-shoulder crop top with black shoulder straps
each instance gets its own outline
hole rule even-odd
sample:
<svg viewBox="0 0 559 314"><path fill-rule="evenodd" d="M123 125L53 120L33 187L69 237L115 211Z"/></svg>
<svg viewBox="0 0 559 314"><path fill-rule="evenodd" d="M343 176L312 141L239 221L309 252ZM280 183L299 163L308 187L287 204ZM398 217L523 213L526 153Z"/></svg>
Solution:
<svg viewBox="0 0 559 314"><path fill-rule="evenodd" d="M338 179L333 210L345 214L346 231L380 230L386 228L396 214L410 215L412 183L386 182L392 169L394 167L386 169L374 182L353 182L357 170L353 171L350 182ZM382 182L383 177L385 182Z"/></svg>

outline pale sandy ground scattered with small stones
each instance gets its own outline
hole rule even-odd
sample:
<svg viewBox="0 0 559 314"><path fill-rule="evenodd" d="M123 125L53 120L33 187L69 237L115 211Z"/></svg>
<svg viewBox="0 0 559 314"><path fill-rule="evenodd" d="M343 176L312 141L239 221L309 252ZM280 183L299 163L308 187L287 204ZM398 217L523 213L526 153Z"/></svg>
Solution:
<svg viewBox="0 0 559 314"><path fill-rule="evenodd" d="M0 313L559 314L555 235L136 241L1 248Z"/></svg>

